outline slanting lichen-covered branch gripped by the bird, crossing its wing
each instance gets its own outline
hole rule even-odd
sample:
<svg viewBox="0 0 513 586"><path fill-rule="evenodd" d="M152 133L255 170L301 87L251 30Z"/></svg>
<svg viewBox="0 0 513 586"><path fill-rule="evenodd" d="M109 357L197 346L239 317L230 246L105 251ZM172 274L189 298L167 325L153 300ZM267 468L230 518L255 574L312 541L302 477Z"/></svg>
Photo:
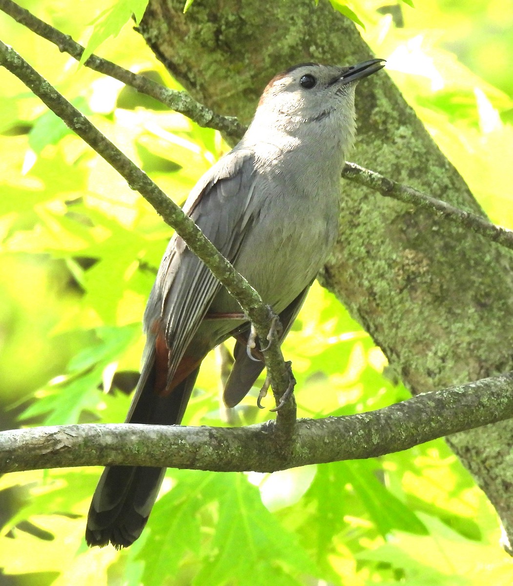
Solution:
<svg viewBox="0 0 513 586"><path fill-rule="evenodd" d="M214 277L224 285L254 323L259 339L266 340L276 318L272 309L264 304L257 291L219 253L189 216L183 213L149 177L124 155L110 140L101 134L73 105L52 87L35 69L11 47L0 41L0 65L11 71L76 134L87 142L98 155L105 159L124 178L131 189L138 191L173 227L187 246L209 268ZM289 369L283 360L278 336L272 336L269 346L263 350L266 368L271 379L276 404L289 386ZM295 422L294 401L288 401L279 411L279 425L290 433Z"/></svg>

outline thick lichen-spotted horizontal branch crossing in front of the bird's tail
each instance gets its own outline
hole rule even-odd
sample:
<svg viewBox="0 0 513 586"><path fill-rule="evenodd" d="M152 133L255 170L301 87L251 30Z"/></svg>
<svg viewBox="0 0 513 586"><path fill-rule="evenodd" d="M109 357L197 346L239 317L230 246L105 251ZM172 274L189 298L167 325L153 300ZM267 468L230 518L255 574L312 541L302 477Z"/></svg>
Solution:
<svg viewBox="0 0 513 586"><path fill-rule="evenodd" d="M290 451L276 423L241 428L83 424L0 432L0 473L63 466L169 466L274 472L371 458L513 417L513 373L420 394L348 417L297 421Z"/></svg>

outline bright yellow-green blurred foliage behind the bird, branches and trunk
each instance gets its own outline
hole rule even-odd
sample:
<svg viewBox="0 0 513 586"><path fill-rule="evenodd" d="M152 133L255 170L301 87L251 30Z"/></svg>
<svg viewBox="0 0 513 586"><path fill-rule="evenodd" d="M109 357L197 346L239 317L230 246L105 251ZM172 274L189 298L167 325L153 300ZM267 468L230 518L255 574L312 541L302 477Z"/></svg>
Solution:
<svg viewBox="0 0 513 586"><path fill-rule="evenodd" d="M23 3L82 43L101 27L110 36L126 21L126 6L141 4L118 2L112 17L102 16L98 0ZM511 2L344 7L491 219L513 227ZM176 202L227 150L217 132L78 67L1 14L0 31ZM98 53L178 87L130 23ZM141 356L141 316L171 231L18 80L2 70L0 83L2 427L122 421ZM284 346L300 417L408 397L369 336L317 285ZM184 423L268 418L255 406L256 390L230 413L220 406L219 361L213 353L204 362ZM443 440L272 475L169 471L148 528L121 552L87 550L83 540L99 473L0 479L1 584L513 582L497 516Z"/></svg>

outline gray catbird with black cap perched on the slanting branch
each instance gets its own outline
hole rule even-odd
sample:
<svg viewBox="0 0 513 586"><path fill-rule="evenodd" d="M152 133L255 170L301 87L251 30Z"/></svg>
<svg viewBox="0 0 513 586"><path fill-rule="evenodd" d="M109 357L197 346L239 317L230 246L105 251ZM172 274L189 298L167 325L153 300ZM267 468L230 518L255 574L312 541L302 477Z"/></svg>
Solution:
<svg viewBox="0 0 513 586"><path fill-rule="evenodd" d="M294 321L338 229L340 173L355 133L356 81L383 67L303 63L266 86L238 145L205 173L184 211L279 315ZM224 401L239 403L264 364L247 353L240 306L180 237L169 242L144 315L142 372L126 421L179 424L203 358L234 336ZM141 534L165 469L105 468L89 510L90 546Z"/></svg>

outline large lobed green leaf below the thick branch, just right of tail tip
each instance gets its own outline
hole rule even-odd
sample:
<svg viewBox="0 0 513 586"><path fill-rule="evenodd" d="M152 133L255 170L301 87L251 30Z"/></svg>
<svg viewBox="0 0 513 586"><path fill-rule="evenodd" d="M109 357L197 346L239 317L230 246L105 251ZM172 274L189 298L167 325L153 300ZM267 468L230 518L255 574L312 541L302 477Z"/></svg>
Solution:
<svg viewBox="0 0 513 586"><path fill-rule="evenodd" d="M155 505L141 550L145 586L175 583L180 567L201 558L193 584L289 586L297 575L319 575L307 552L262 505L259 491L238 473L178 471L177 485ZM213 537L204 529L214 526Z"/></svg>

